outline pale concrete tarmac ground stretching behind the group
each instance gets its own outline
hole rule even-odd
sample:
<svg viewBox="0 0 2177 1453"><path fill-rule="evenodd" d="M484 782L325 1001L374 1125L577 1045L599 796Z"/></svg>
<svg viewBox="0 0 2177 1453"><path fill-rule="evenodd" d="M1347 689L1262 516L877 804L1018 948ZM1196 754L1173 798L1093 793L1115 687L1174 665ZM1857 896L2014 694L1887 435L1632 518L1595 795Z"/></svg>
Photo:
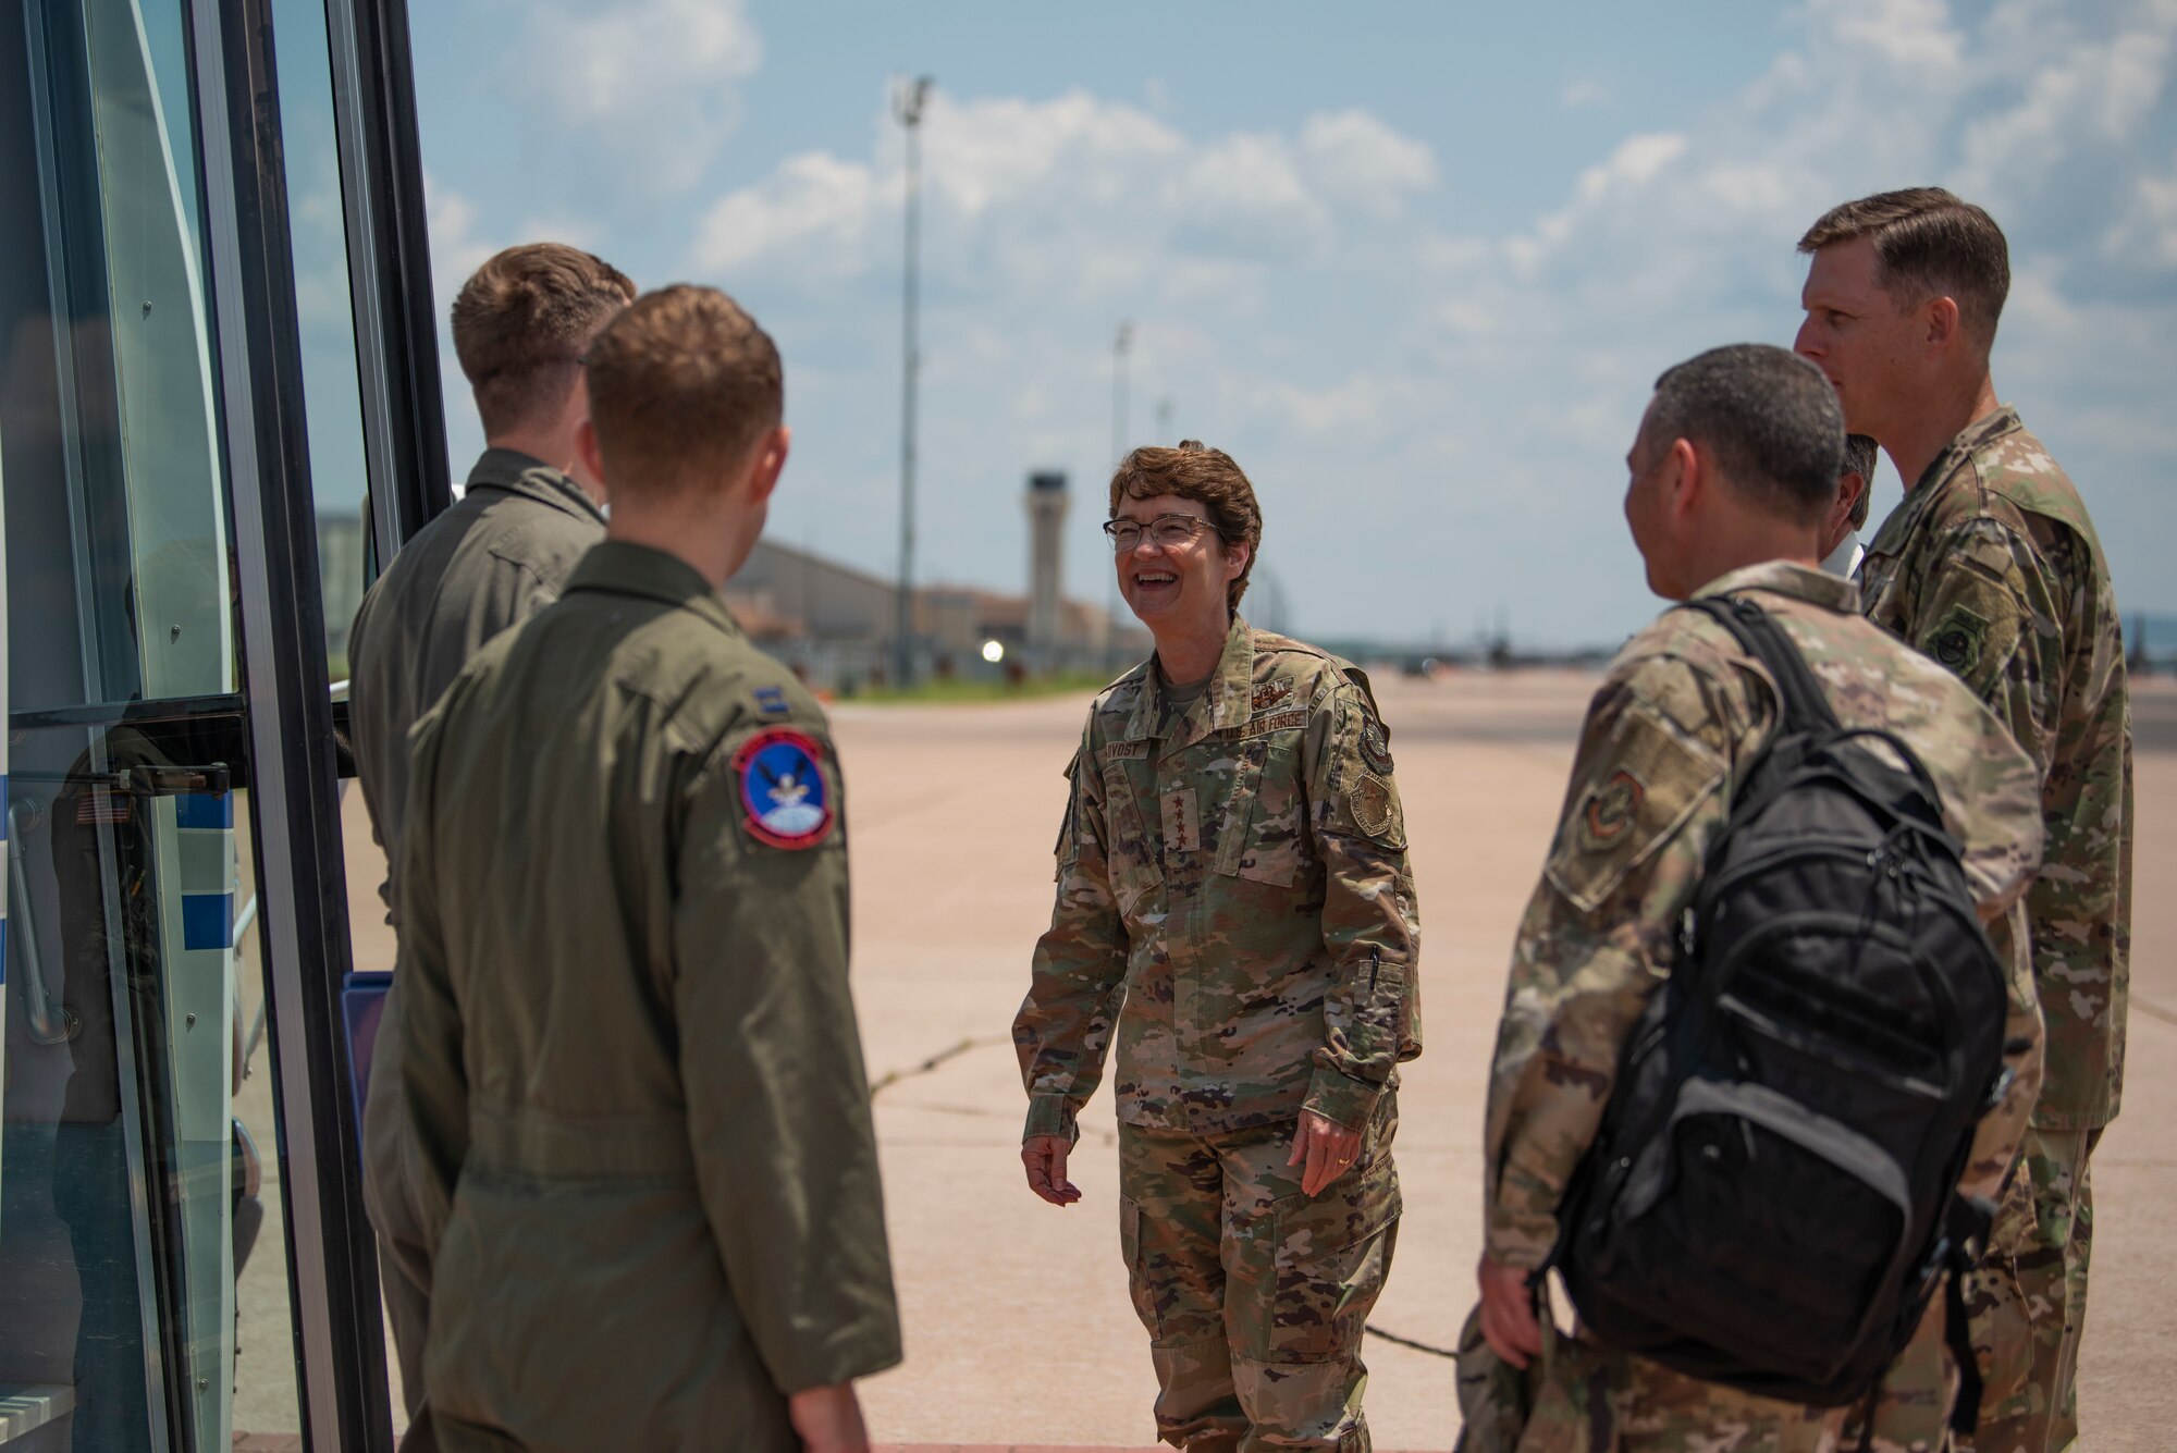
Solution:
<svg viewBox="0 0 2177 1453"><path fill-rule="evenodd" d="M1374 1327L1450 1349L1474 1301L1480 1114L1504 966L1594 676L1378 674L1376 690L1422 896L1426 1053L1404 1070L1406 1214ZM1025 1101L1008 1029L1049 922L1062 770L1084 709L1084 696L1067 696L834 711L853 840L853 983L908 1349L903 1366L864 1383L880 1444L1154 1442L1147 1333L1119 1262L1108 1094L1084 1116L1078 1205L1036 1201L1019 1164ZM2177 1201L2177 898L2157 892L2177 881L2177 683L2138 685L2136 742L2131 1064L2125 1114L2094 1157L2081 1370L2083 1446L2112 1453L2160 1453L2177 1427L2166 1375L2177 1242L2162 1233L2162 1207ZM353 792L344 827L357 964L377 966L392 955ZM261 1051L257 1070L244 1114L268 1120ZM266 1125L259 1146L272 1144ZM274 1220L242 1288L242 1405L255 1416L237 1427L257 1431L296 1427L279 1249ZM1380 1336L1365 1351L1376 1446L1450 1449L1450 1359Z"/></svg>

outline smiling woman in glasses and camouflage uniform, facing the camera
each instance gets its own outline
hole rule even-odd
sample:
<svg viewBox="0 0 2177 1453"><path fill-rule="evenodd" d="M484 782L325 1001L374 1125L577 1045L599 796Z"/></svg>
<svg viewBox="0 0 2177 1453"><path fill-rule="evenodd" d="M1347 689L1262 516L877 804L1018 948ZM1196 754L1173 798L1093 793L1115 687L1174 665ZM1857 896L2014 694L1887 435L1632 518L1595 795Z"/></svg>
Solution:
<svg viewBox="0 0 2177 1453"><path fill-rule="evenodd" d="M1237 607L1263 537L1200 444L1110 483L1156 655L1088 709L1058 903L1012 1038L1051 1205L1119 1031L1119 1240L1184 1449L1367 1449L1361 1329L1400 1214L1419 918L1367 676Z"/></svg>

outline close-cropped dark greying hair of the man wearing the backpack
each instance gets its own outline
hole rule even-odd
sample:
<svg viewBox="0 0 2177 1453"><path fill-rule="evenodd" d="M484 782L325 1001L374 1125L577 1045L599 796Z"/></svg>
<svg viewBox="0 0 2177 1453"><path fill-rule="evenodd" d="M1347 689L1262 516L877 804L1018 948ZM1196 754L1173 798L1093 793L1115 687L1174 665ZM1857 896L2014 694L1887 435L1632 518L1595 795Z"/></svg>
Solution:
<svg viewBox="0 0 2177 1453"><path fill-rule="evenodd" d="M1807 359L1770 344L1729 344L1655 381L1646 448L1687 439L1739 498L1794 524L1820 524L1844 470L1844 411Z"/></svg>

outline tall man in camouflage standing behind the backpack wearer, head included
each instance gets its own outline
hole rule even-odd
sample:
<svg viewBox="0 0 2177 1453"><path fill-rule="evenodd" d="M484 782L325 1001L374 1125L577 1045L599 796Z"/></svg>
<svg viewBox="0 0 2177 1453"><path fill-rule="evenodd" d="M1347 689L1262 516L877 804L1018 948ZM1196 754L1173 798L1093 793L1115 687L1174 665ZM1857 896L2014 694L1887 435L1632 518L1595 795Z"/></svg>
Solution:
<svg viewBox="0 0 2177 1453"><path fill-rule="evenodd" d="M2009 261L1994 220L1935 187L1894 191L1833 209L1800 250L1816 257L1800 352L1909 481L1861 563L1864 609L1955 672L2038 768L2046 866L2027 922L2049 1066L2025 1175L2005 1188L1968 1305L1988 1377L1979 1453L2066 1449L2079 1436L2088 1157L2123 1096L2131 981L2131 705L2116 594L2079 492L1996 402L1988 348ZM1831 322L1833 307L1866 320ZM1898 370L1896 337L1920 339L1903 357L1922 372Z"/></svg>

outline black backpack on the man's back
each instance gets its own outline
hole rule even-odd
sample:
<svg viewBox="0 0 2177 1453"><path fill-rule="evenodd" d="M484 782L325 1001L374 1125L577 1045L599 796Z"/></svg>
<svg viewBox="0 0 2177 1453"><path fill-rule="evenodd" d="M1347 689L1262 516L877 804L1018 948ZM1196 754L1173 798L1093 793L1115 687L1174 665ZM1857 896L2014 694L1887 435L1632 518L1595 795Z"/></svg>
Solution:
<svg viewBox="0 0 2177 1453"><path fill-rule="evenodd" d="M1670 981L1618 1068L1552 1264L1598 1342L1744 1392L1868 1396L1992 1207L1957 1194L2007 1088L2005 968L1942 796L1898 737L1837 722L1748 600L1694 600L1776 679ZM1883 750L1887 746L1887 750Z"/></svg>

